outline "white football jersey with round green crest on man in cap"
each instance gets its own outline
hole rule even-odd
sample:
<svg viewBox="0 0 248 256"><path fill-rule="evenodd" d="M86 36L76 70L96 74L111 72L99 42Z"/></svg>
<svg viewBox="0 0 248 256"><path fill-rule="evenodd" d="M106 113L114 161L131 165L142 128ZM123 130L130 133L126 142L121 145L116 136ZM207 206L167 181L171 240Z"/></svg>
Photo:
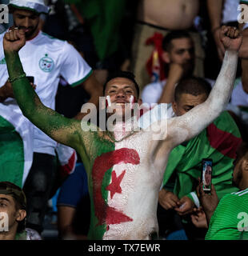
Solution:
<svg viewBox="0 0 248 256"><path fill-rule="evenodd" d="M3 35L4 33L0 34L1 58L4 56ZM26 75L34 76L34 84L37 86L35 92L38 97L45 106L53 110L61 76L71 86L77 86L92 72L90 66L73 46L66 41L52 38L42 31L32 40L26 41L26 45L19 51L19 56ZM8 72L4 59L0 59L0 62L0 86L3 86L8 78ZM7 98L4 102L4 105L10 108L15 104L12 98ZM10 121L10 119L7 120ZM54 154L56 145L56 142L34 126L34 152Z"/></svg>

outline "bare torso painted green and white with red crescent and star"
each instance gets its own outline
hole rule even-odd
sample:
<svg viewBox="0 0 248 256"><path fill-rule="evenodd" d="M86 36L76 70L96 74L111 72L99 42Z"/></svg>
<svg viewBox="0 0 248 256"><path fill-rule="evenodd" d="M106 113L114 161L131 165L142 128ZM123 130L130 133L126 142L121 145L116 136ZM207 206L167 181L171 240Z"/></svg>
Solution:
<svg viewBox="0 0 248 256"><path fill-rule="evenodd" d="M147 127L149 116L144 114L142 120ZM155 188L159 190L162 176L146 167L150 134L134 132L114 142L107 132L88 131L82 139L78 153L86 168L91 203L88 239L134 239L142 236L137 230L149 234L150 227L157 229Z"/></svg>

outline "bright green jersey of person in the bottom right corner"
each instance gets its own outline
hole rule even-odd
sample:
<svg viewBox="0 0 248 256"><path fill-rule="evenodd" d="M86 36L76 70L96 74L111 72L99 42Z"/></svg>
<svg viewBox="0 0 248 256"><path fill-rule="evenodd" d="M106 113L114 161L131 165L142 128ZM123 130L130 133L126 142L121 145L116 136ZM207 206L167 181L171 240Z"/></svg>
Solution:
<svg viewBox="0 0 248 256"><path fill-rule="evenodd" d="M205 239L248 240L248 188L222 198Z"/></svg>

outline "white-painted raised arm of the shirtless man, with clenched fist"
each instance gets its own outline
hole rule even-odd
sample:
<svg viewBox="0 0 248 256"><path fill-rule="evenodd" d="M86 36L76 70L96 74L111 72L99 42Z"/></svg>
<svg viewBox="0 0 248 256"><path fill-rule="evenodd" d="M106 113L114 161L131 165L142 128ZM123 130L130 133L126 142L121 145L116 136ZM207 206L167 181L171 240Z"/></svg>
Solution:
<svg viewBox="0 0 248 256"><path fill-rule="evenodd" d="M226 49L222 69L206 102L195 106L188 113L168 121L168 139L171 146L194 138L225 110L230 99L236 75L238 50L242 36L230 26L222 26L220 38Z"/></svg>

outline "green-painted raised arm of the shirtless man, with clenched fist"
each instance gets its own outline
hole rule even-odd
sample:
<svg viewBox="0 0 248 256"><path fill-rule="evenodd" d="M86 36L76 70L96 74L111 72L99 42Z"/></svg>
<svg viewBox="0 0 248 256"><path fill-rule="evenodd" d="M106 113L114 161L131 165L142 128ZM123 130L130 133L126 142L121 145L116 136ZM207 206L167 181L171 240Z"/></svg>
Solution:
<svg viewBox="0 0 248 256"><path fill-rule="evenodd" d="M77 149L79 145L80 122L64 118L54 110L44 106L22 69L18 50L25 45L25 33L22 30L10 30L3 39L3 48L14 97L22 113L39 129L55 141ZM79 127L79 129L78 129Z"/></svg>

